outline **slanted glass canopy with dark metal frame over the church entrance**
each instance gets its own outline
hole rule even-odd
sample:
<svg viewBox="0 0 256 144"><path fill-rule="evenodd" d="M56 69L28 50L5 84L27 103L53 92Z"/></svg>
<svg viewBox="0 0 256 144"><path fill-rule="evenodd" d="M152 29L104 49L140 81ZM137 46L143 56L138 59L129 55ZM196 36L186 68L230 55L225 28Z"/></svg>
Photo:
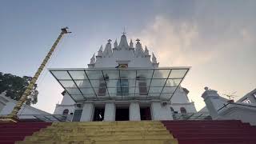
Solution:
<svg viewBox="0 0 256 144"><path fill-rule="evenodd" d="M49 69L74 102L173 97L190 67Z"/></svg>

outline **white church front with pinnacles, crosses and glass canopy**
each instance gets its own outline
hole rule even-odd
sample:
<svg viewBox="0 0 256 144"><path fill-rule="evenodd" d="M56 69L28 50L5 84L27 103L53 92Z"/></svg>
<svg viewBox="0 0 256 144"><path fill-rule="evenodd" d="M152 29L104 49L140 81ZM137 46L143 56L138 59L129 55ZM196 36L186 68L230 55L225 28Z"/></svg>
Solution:
<svg viewBox="0 0 256 144"><path fill-rule="evenodd" d="M181 86L190 67L159 67L139 39L125 34L90 58L88 68L50 69L64 88L54 114L72 114L74 122L172 120L174 113L196 113L189 90Z"/></svg>

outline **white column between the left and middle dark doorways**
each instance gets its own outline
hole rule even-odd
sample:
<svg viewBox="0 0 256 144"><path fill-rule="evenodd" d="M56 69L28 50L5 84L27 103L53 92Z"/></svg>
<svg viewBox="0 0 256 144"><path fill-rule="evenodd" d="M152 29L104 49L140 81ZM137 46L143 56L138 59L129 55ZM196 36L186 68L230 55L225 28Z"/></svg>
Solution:
<svg viewBox="0 0 256 144"><path fill-rule="evenodd" d="M113 102L105 105L104 121L115 121L115 105Z"/></svg>

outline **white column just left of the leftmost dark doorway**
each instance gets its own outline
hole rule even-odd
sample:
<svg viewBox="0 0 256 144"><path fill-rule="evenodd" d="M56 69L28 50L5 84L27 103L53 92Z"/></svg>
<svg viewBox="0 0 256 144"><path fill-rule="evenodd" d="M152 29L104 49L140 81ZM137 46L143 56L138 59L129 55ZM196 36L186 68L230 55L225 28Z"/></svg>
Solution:
<svg viewBox="0 0 256 144"><path fill-rule="evenodd" d="M82 115L80 122L90 122L94 118L94 104L85 103L82 108Z"/></svg>

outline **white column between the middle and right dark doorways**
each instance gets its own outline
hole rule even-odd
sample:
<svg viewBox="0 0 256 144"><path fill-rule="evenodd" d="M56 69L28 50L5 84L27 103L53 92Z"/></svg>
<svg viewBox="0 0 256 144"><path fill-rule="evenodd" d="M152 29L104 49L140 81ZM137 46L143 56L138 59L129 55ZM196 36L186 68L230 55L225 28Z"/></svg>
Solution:
<svg viewBox="0 0 256 144"><path fill-rule="evenodd" d="M138 102L131 102L129 106L129 119L130 121L140 121L141 113Z"/></svg>

